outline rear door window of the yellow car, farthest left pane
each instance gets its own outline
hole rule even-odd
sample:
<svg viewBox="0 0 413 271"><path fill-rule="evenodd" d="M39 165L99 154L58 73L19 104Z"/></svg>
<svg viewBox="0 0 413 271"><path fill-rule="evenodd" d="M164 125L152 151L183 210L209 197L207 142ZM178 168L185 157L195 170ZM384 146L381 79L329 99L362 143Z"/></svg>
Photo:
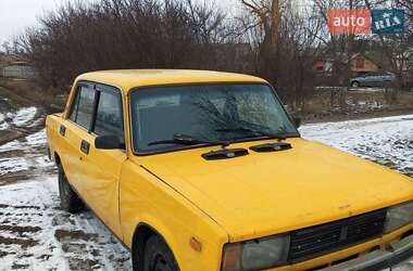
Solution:
<svg viewBox="0 0 413 271"><path fill-rule="evenodd" d="M87 86L79 87L72 106L71 120L89 130L93 115L93 102L95 90Z"/></svg>

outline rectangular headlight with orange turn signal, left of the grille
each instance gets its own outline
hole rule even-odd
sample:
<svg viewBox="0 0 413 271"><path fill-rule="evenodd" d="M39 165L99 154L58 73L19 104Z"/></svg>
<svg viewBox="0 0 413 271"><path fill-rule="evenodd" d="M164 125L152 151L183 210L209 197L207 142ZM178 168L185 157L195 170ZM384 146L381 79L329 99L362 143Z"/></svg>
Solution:
<svg viewBox="0 0 413 271"><path fill-rule="evenodd" d="M222 270L261 270L287 263L289 241L289 235L278 235L227 244L224 247Z"/></svg>

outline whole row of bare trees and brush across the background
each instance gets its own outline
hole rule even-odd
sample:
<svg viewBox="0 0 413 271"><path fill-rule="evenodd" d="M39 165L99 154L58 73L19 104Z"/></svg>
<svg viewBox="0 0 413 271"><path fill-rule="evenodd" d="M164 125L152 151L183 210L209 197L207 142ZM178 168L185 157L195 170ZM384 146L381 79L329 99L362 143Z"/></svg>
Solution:
<svg viewBox="0 0 413 271"><path fill-rule="evenodd" d="M302 106L312 93L315 63L329 55L333 80L348 86L350 57L378 50L399 75L400 55L412 41L413 0L239 0L235 17L192 0L101 0L66 3L14 42L39 70L41 81L62 88L88 70L202 68L255 74L276 82L281 96ZM301 2L301 1L300 1ZM333 36L331 8L403 8L408 31L393 36ZM342 65L345 63L346 65ZM396 100L396 96L393 98Z"/></svg>

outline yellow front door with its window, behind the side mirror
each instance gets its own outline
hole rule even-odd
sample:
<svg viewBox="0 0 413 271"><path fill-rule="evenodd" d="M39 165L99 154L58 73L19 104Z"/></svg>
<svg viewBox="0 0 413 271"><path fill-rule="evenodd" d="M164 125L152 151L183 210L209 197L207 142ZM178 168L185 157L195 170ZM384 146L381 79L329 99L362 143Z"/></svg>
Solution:
<svg viewBox="0 0 413 271"><path fill-rule="evenodd" d="M96 85L97 101L89 139L89 154L85 155L88 164L88 196L91 208L103 222L122 238L118 212L120 177L126 151L97 150L95 139L99 136L116 136L125 143L122 93L118 89Z"/></svg>

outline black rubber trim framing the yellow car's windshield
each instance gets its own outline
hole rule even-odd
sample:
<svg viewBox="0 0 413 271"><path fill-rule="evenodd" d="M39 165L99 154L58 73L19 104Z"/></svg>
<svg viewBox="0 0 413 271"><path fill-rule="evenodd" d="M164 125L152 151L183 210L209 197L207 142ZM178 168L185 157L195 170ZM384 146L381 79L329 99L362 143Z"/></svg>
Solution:
<svg viewBox="0 0 413 271"><path fill-rule="evenodd" d="M165 154L165 153L174 153L174 152L182 152L182 151L188 151L188 150L195 150L195 149L201 149L201 147L208 147L208 146L211 146L211 144L202 144L202 145L192 145L192 146L182 146L182 147L176 147L176 149L173 149L173 150L161 150L161 151L139 151L138 150L135 150L135 144L134 144L134 129L133 129L133 114L132 114L132 108L133 108L133 104L132 104L132 94L136 91L139 91L139 90L147 90L147 89L155 89L155 88L164 88L164 87L189 87L189 86L216 86L216 85L261 85L261 86L266 86L268 87L273 94L274 94L274 98L277 102L279 102L284 113L287 115L287 118L291 121L291 124L293 124L293 120L292 120L292 117L290 116L290 114L287 112L286 107L284 106L278 93L276 92L275 88L268 83L268 82L255 82L255 81L209 81L209 82L185 82L185 83L161 83L161 85L151 85L151 86L142 86L142 87L134 87L134 88L130 88L129 91L127 92L127 100L128 100L128 106L129 106L129 109L128 109L128 122L129 122L129 145L130 145L130 150L132 150L132 153L133 155L135 156L151 156L151 155L157 155L157 154ZM295 128L297 133L295 134L291 134L290 138L301 138L301 134L299 132L299 130L297 128ZM256 138L256 139L248 139L248 140L240 140L240 141L237 141L237 142L234 142L234 143L242 143L242 142L254 142L254 141L262 141L262 140L268 140L268 139L265 139L265 138Z"/></svg>

